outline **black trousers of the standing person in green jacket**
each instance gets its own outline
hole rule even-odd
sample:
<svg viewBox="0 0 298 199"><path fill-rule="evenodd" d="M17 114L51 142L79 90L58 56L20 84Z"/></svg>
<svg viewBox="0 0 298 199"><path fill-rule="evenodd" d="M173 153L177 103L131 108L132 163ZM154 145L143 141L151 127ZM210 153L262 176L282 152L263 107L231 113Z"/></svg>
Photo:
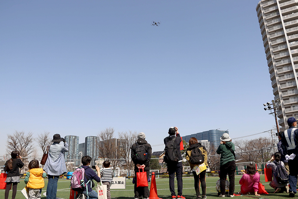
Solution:
<svg viewBox="0 0 298 199"><path fill-rule="evenodd" d="M234 194L235 189L235 171L236 171L236 164L235 160L225 163L220 167L221 175L220 175L220 182L221 182L221 194L224 195L226 193L226 175L229 175L229 194Z"/></svg>

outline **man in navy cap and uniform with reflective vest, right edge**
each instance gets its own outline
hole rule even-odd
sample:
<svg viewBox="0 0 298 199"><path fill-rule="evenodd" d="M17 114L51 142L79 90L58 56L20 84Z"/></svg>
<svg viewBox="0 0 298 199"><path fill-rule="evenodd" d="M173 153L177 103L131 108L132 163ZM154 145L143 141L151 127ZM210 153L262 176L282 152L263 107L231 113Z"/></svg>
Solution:
<svg viewBox="0 0 298 199"><path fill-rule="evenodd" d="M282 135L282 149L285 152L285 158L289 165L289 184L291 186L289 197L294 198L297 193L297 175L298 175L298 129L297 121L294 117L288 118L289 129Z"/></svg>

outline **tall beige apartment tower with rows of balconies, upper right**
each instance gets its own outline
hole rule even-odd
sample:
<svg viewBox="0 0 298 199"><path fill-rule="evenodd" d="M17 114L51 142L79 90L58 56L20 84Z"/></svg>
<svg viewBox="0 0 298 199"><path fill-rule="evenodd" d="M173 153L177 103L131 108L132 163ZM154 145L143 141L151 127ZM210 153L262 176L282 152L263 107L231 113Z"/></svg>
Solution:
<svg viewBox="0 0 298 199"><path fill-rule="evenodd" d="M262 0L257 5L278 123L298 118L298 0ZM297 72L296 72L297 70Z"/></svg>

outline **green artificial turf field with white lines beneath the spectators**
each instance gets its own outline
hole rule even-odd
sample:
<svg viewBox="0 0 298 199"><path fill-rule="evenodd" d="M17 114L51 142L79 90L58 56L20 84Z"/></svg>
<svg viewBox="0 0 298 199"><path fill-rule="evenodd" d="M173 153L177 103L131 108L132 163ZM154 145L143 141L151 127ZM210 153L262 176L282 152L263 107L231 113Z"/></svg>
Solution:
<svg viewBox="0 0 298 199"><path fill-rule="evenodd" d="M235 176L235 193L240 192L240 185L239 180L241 178L241 175ZM215 199L218 198L217 192L215 190L215 183L218 180L218 177L207 177L206 178L206 195L209 199ZM176 182L176 180L175 180ZM275 198L288 198L287 193L280 193L280 194L273 194L274 189L269 186L269 182L265 182L264 175L261 175L261 182L263 185L265 185L266 191L269 193L267 195L261 195L260 198L269 198L269 199L275 199ZM46 192L46 184L47 179L45 179L45 187L42 189L42 199L46 199L46 197L43 195L44 192ZM70 180L64 180L61 179L58 181L58 191L57 191L57 198L69 198L69 189ZM96 186L96 183L95 183ZM18 192L16 195L16 199L24 199L24 195L21 193L21 190L25 187L24 180L21 180L21 182L18 184ZM156 187L157 187L157 194L160 198L163 199L170 199L171 194L169 190L169 179L168 178L161 178L156 179ZM194 187L194 180L193 177L183 178L183 196L186 199L195 199L195 189ZM150 188L150 183L149 183ZM177 186L175 186L177 190ZM201 191L201 189L200 189ZM12 191L10 191L9 199L11 198ZM176 192L177 194L177 192ZM298 194L296 194L298 197ZM112 198L134 198L134 184L132 183L132 180L126 180L126 189L111 189L111 197ZM244 196L235 196L238 199L249 199ZM234 197L234 198L235 198ZM4 198L4 190L0 190L0 198Z"/></svg>

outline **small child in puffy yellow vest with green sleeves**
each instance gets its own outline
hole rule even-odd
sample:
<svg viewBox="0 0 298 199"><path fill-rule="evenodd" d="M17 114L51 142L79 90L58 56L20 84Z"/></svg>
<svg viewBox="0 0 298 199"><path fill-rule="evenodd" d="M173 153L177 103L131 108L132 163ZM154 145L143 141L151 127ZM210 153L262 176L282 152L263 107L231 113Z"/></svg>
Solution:
<svg viewBox="0 0 298 199"><path fill-rule="evenodd" d="M25 183L29 188L29 199L41 198L41 189L44 188L44 178L46 172L39 168L38 160L32 160L28 165L29 171L26 173Z"/></svg>

